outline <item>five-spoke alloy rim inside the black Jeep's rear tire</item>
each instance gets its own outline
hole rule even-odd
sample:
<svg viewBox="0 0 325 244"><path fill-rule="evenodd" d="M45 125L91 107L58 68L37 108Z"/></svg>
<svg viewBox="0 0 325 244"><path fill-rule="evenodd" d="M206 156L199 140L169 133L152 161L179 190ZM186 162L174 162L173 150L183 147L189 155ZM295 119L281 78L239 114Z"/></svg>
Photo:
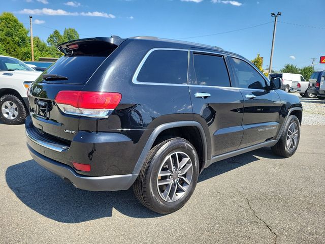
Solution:
<svg viewBox="0 0 325 244"><path fill-rule="evenodd" d="M189 156L177 151L167 156L161 164L157 188L161 198L175 202L188 190L192 180L193 167Z"/></svg>

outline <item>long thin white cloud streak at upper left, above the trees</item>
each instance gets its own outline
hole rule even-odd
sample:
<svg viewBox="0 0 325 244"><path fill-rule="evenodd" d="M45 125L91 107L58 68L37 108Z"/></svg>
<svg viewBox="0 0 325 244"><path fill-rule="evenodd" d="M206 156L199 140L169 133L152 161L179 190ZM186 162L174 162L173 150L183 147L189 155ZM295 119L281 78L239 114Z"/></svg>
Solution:
<svg viewBox="0 0 325 244"><path fill-rule="evenodd" d="M62 9L23 9L18 11L19 14L35 14L35 15L69 15L69 16L95 16L95 17L104 17L104 18L115 18L114 15L104 13L104 12L67 12Z"/></svg>

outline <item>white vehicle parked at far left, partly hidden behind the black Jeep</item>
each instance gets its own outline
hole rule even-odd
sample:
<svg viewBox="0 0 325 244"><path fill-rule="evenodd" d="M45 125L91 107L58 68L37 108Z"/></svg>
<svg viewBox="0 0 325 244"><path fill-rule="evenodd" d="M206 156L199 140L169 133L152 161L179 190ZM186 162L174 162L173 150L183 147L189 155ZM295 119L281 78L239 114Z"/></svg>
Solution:
<svg viewBox="0 0 325 244"><path fill-rule="evenodd" d="M23 124L28 114L27 88L41 72L14 57L0 55L0 121Z"/></svg>

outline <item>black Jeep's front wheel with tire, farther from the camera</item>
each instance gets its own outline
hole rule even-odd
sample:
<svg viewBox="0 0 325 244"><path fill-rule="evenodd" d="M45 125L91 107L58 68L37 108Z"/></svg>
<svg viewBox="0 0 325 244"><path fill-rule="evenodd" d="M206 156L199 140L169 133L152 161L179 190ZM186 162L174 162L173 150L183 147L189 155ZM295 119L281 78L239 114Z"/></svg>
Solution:
<svg viewBox="0 0 325 244"><path fill-rule="evenodd" d="M300 140L300 123L295 115L290 115L284 125L279 141L271 147L274 154L289 158L296 153Z"/></svg>

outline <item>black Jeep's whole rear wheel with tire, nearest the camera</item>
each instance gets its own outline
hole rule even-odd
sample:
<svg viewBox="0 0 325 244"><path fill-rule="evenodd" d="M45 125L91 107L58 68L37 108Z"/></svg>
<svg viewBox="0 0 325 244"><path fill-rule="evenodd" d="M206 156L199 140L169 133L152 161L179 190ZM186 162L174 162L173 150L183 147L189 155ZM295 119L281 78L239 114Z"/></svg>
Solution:
<svg viewBox="0 0 325 244"><path fill-rule="evenodd" d="M198 177L196 149L183 138L171 138L149 151L133 190L145 207L170 214L188 201Z"/></svg>

